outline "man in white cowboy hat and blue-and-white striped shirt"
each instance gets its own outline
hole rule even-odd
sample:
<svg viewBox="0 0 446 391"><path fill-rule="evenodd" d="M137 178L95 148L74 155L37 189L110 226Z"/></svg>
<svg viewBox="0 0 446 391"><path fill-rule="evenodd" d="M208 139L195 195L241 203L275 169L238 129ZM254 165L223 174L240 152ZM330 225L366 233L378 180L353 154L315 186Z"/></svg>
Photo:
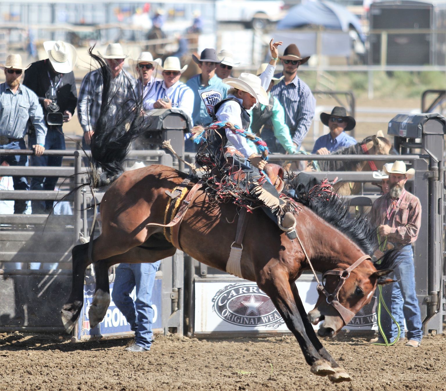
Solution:
<svg viewBox="0 0 446 391"><path fill-rule="evenodd" d="M178 57L167 57L161 69L163 80L156 82L155 94L147 104L148 110L178 109L192 118L194 91L180 81L187 65L181 67Z"/></svg>

